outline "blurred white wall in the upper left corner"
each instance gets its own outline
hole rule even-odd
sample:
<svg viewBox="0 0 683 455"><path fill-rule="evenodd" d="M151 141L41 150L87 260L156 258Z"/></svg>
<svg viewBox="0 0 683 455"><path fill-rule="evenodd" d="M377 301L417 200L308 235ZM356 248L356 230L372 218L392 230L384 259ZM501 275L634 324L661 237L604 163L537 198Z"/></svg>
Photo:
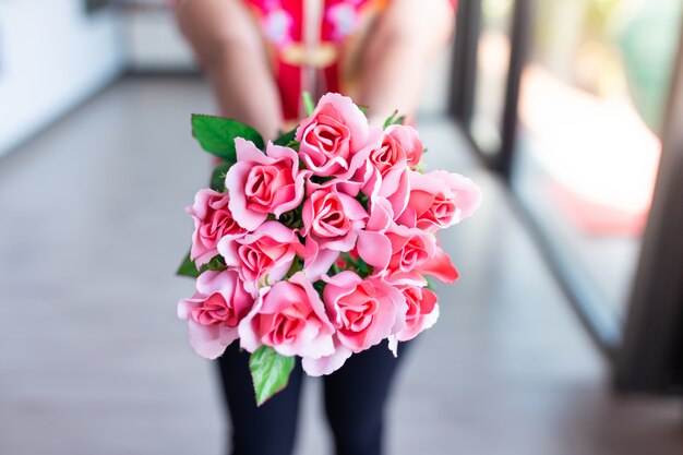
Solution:
<svg viewBox="0 0 683 455"><path fill-rule="evenodd" d="M111 11L82 0L0 1L0 155L109 83L124 65Z"/></svg>

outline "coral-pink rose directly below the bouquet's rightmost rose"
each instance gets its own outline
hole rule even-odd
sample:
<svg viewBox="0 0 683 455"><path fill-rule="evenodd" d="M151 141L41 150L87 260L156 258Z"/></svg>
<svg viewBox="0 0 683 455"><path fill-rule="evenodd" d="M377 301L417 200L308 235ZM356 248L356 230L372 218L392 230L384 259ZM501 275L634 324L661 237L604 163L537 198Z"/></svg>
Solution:
<svg viewBox="0 0 683 455"><path fill-rule="evenodd" d="M446 283L454 283L458 277L451 258L436 246L431 234L391 224L384 232L375 232L371 239L364 236L359 239L358 253L363 261L375 266L374 275L382 276L387 283L423 286L422 275Z"/></svg>

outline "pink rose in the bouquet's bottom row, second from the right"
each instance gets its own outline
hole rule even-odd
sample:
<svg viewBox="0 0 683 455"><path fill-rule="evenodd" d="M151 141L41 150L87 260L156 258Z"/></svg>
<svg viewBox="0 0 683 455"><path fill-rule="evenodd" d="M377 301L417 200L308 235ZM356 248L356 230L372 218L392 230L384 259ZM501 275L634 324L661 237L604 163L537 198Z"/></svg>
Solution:
<svg viewBox="0 0 683 455"><path fill-rule="evenodd" d="M339 344L360 352L400 332L405 326L406 299L381 279L362 279L351 271L323 277L323 301Z"/></svg>

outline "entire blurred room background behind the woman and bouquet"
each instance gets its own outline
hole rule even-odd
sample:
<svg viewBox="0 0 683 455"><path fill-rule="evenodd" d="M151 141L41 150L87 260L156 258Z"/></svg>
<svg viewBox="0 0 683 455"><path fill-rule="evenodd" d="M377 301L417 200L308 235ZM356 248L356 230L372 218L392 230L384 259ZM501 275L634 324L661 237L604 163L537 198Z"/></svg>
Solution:
<svg viewBox="0 0 683 455"><path fill-rule="evenodd" d="M417 0L416 0L417 1ZM418 118L484 193L388 453L683 453L683 3L462 0ZM0 454L219 454L173 276L214 112L164 0L0 1ZM320 383L298 453L328 453Z"/></svg>

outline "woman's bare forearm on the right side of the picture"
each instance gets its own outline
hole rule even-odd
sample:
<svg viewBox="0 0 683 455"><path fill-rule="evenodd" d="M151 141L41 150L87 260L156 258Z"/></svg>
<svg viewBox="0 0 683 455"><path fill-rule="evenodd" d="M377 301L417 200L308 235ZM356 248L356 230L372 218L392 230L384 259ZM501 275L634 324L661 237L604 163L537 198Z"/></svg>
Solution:
<svg viewBox="0 0 683 455"><path fill-rule="evenodd" d="M371 32L362 59L361 105L371 123L381 124L393 111L415 116L426 68L443 48L455 25L447 0L393 0Z"/></svg>

